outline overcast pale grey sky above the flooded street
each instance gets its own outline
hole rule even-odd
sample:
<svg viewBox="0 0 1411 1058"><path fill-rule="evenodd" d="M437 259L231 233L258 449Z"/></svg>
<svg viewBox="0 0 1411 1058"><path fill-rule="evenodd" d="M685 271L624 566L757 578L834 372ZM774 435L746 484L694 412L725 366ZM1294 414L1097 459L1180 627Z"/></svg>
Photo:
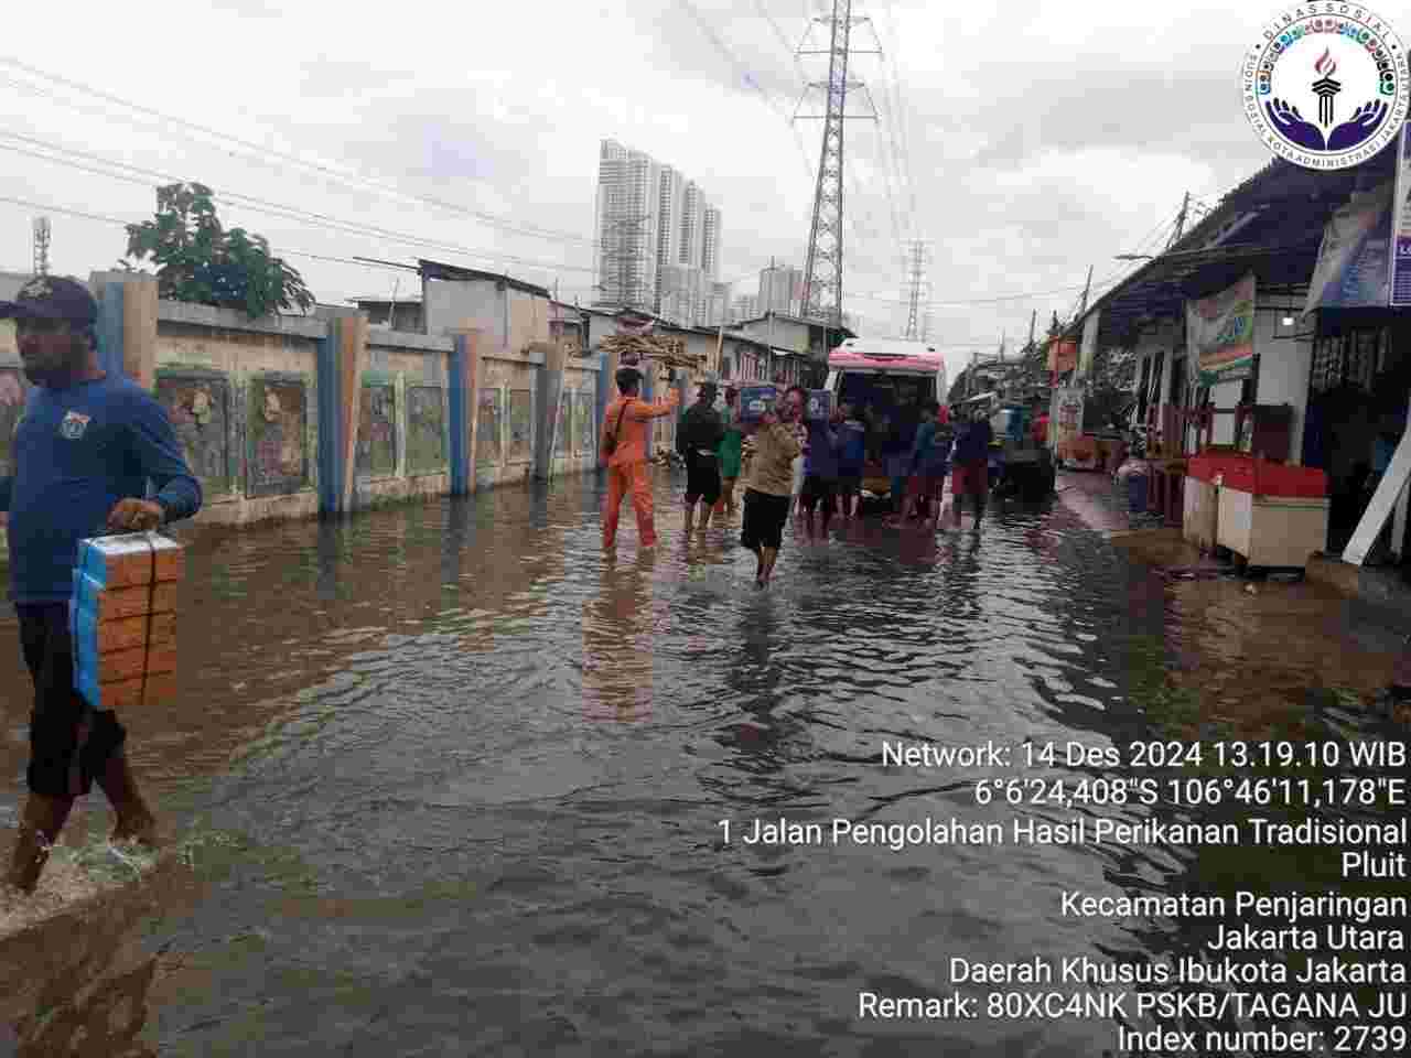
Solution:
<svg viewBox="0 0 1411 1058"><path fill-rule="evenodd" d="M612 137L707 190L722 278L753 292L770 257L804 258L821 123L789 117L825 61L792 52L823 4L24 4L0 45L0 269L31 268L25 203L49 207L54 271L86 276L158 182L199 179L320 302L406 293L346 261L420 255L587 303ZM880 120L847 128L847 310L900 327L900 243L923 238L933 340L1013 348L1089 265L1101 291L1132 267L1113 255L1164 245L1184 192L1213 205L1268 159L1237 66L1278 7L1243 8L856 0L854 47L883 54L852 66L849 110Z"/></svg>

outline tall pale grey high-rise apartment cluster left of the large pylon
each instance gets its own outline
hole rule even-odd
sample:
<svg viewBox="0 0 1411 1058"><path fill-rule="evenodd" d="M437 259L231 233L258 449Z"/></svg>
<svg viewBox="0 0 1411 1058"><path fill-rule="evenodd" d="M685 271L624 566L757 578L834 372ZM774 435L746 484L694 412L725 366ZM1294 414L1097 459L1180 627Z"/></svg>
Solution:
<svg viewBox="0 0 1411 1058"><path fill-rule="evenodd" d="M594 205L598 305L706 323L720 278L720 210L694 181L650 155L604 140Z"/></svg>

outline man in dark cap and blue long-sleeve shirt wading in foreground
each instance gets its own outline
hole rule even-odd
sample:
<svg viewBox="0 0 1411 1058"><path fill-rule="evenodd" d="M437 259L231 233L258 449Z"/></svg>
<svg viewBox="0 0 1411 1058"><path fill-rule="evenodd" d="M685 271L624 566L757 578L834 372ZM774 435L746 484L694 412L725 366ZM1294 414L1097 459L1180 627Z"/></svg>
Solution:
<svg viewBox="0 0 1411 1058"><path fill-rule="evenodd" d="M73 687L68 600L78 542L103 528L148 530L200 508L165 409L97 363L97 303L75 279L37 276L0 319L16 322L25 377L34 382L14 436L14 475L0 478L10 515L10 594L20 646L34 679L30 797L7 882L32 892L73 800L93 782L117 813L116 841L154 839L155 821L133 780L127 732ZM145 498L147 482L158 490Z"/></svg>

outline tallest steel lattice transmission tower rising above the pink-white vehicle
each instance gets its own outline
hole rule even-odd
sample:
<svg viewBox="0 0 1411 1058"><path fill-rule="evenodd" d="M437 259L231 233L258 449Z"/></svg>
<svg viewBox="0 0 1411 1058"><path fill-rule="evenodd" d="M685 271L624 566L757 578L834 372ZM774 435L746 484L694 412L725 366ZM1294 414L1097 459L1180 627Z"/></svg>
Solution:
<svg viewBox="0 0 1411 1058"><path fill-rule="evenodd" d="M809 258L803 275L803 315L824 320L834 327L842 324L842 123L847 120L876 120L876 107L861 80L848 79L848 61L854 55L880 55L878 51L852 48L852 28L868 18L852 17L852 0L832 0L831 18L813 23L828 27L828 47L804 49L799 55L827 55L828 79L811 82L809 87L823 89L827 104L821 114L804 114L806 120L823 121L823 150L818 154L818 181L813 192L813 223L809 229ZM813 27L804 35L809 42ZM872 106L871 114L847 113L848 93L861 90ZM803 100L800 100L801 103ZM794 121L800 114L794 113Z"/></svg>

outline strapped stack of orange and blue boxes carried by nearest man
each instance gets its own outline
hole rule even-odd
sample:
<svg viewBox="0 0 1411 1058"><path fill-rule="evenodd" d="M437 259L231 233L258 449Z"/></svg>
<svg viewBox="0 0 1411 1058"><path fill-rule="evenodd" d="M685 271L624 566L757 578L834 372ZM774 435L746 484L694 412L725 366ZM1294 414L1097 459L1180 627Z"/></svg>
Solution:
<svg viewBox="0 0 1411 1058"><path fill-rule="evenodd" d="M73 683L113 710L171 698L176 683L176 590L186 553L159 533L79 540L69 600Z"/></svg>

